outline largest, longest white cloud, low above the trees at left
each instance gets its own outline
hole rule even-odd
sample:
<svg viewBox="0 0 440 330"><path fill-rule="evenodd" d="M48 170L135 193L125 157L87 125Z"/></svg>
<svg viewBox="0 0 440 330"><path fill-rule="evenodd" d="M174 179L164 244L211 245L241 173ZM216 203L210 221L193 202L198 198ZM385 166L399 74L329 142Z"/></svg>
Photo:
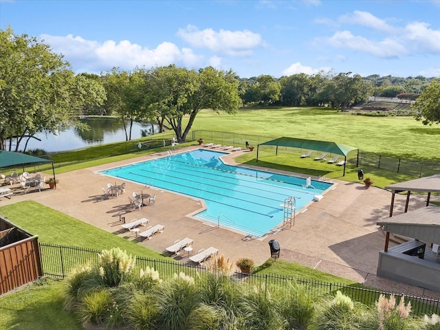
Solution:
<svg viewBox="0 0 440 330"><path fill-rule="evenodd" d="M189 48L179 48L174 43L164 42L153 50L131 43L128 40L116 43L113 40L87 41L80 36L41 36L52 50L61 53L65 59L80 71L107 71L111 67L134 69L135 67L154 67L156 65L183 64L199 67L203 56L196 55Z"/></svg>

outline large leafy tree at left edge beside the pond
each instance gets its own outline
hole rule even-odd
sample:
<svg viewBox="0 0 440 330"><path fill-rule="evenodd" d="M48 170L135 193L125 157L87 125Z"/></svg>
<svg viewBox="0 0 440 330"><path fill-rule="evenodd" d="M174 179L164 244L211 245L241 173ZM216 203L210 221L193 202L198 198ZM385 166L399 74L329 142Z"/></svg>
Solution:
<svg viewBox="0 0 440 330"><path fill-rule="evenodd" d="M80 127L85 104L100 104L103 89L74 76L69 63L26 34L0 30L0 148L19 150L40 132ZM9 142L8 146L7 141ZM25 150L25 148L24 148Z"/></svg>

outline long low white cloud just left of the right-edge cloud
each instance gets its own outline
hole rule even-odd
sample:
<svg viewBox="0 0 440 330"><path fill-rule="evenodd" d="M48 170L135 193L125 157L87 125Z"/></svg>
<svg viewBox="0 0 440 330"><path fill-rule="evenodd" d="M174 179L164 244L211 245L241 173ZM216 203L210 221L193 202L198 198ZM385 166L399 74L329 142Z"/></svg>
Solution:
<svg viewBox="0 0 440 330"><path fill-rule="evenodd" d="M371 41L363 36L353 36L347 30L336 32L330 38L325 39L325 42L336 48L371 53L383 58L398 57L407 53L405 47L393 39Z"/></svg>

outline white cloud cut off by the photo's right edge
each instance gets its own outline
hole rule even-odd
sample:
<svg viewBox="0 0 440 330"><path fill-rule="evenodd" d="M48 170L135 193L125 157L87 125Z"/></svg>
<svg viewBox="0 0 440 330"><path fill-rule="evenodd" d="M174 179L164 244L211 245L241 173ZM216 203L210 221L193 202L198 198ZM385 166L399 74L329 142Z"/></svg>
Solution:
<svg viewBox="0 0 440 330"><path fill-rule="evenodd" d="M440 30L428 28L428 23L410 23L406 25L403 37L410 41L417 52L440 53Z"/></svg>

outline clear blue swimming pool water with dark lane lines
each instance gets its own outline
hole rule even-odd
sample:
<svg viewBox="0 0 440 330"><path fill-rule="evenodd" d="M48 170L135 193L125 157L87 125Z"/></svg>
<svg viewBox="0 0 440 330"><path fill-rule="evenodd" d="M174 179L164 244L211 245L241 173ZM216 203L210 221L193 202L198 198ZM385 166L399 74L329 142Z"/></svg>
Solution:
<svg viewBox="0 0 440 330"><path fill-rule="evenodd" d="M230 166L218 151L199 149L111 168L101 173L203 199L207 210L197 217L254 236L283 223L285 199L295 197L296 212L331 184Z"/></svg>

